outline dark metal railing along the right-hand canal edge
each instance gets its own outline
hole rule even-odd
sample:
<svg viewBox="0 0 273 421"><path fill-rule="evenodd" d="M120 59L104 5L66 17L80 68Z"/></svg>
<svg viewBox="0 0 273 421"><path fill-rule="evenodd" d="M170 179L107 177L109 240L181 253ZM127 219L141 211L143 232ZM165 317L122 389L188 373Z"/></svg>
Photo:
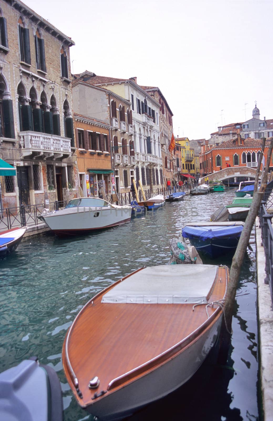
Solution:
<svg viewBox="0 0 273 421"><path fill-rule="evenodd" d="M273 228L272 228L272 217L273 213L268 212L272 205L273 209L273 197L271 196L273 189L273 181L268 183L265 189L265 194L260 206L259 218L261 228L261 245L265 250L265 284L269 285L271 304L273 308Z"/></svg>

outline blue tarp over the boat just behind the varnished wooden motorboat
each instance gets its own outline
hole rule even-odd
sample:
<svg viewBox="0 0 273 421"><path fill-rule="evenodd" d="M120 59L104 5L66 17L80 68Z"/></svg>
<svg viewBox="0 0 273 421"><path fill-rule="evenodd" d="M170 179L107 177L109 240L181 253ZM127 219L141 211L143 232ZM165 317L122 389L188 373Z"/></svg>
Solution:
<svg viewBox="0 0 273 421"><path fill-rule="evenodd" d="M210 238L236 238L241 235L243 225L232 226L185 226L182 236L185 238L199 238L202 241Z"/></svg>

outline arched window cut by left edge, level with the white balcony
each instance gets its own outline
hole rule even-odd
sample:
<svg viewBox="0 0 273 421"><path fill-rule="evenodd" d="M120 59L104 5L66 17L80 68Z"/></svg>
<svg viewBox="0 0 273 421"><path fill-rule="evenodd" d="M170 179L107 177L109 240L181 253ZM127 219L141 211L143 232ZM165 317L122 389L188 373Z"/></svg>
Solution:
<svg viewBox="0 0 273 421"><path fill-rule="evenodd" d="M8 92L8 83L3 74L0 74L0 137L15 138L13 106L11 94Z"/></svg>

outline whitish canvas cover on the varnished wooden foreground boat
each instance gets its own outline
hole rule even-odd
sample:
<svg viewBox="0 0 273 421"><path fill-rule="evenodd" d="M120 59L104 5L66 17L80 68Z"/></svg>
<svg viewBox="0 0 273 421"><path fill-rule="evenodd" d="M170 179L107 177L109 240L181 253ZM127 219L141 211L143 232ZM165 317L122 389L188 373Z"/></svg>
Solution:
<svg viewBox="0 0 273 421"><path fill-rule="evenodd" d="M103 295L102 303L206 303L217 275L214 265L146 267Z"/></svg>

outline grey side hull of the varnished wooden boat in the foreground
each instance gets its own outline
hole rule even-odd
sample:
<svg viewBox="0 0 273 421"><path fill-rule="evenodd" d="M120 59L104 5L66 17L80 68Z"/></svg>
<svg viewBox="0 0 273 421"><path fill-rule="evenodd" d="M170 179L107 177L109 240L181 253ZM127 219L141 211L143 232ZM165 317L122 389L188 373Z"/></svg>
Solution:
<svg viewBox="0 0 273 421"><path fill-rule="evenodd" d="M120 420L178 389L196 373L217 343L221 320L222 314L175 358L85 409L101 420Z"/></svg>

